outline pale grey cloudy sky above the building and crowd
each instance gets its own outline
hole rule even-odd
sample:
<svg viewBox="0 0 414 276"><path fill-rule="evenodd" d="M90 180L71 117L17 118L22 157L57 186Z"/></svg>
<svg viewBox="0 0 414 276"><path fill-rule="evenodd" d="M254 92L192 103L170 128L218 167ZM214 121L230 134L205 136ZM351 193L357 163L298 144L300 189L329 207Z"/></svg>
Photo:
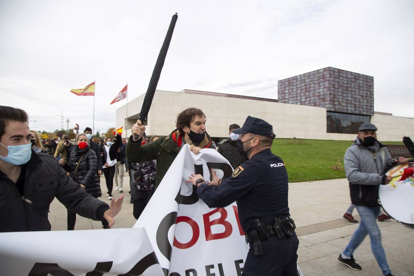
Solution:
<svg viewBox="0 0 414 276"><path fill-rule="evenodd" d="M96 80L95 129L119 127L125 100L109 103L127 82L145 93L175 12L157 89L277 98L278 80L331 66L374 77L375 111L414 117L411 0L0 0L0 104L83 130L93 97L69 91Z"/></svg>

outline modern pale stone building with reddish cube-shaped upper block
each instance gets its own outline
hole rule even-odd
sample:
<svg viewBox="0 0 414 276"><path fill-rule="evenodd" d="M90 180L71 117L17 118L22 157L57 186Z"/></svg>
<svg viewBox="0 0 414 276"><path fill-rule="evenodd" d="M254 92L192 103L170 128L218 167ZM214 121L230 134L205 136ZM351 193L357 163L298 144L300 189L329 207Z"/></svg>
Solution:
<svg viewBox="0 0 414 276"><path fill-rule="evenodd" d="M359 125L372 122L381 141L414 137L414 118L374 112L373 77L326 67L280 80L278 100L207 91L157 90L149 110L147 135L168 135L176 116L190 106L207 117L207 132L219 142L228 137L229 125L242 125L248 115L273 125L277 138L354 140ZM130 136L139 118L144 94L117 109L116 125L124 125Z"/></svg>

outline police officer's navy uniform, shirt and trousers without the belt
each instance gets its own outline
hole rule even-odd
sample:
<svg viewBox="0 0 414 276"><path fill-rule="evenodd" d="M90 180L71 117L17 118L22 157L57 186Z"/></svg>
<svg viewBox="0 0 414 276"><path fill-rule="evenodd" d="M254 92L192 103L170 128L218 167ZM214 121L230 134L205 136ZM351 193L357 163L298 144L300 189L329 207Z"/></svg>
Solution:
<svg viewBox="0 0 414 276"><path fill-rule="evenodd" d="M237 201L238 216L245 232L260 218L265 225L289 216L288 175L283 160L270 149L260 151L236 168L219 186L202 184L198 196L209 207L224 207ZM298 238L279 240L275 235L262 241L263 255L255 256L250 244L243 275L297 275Z"/></svg>

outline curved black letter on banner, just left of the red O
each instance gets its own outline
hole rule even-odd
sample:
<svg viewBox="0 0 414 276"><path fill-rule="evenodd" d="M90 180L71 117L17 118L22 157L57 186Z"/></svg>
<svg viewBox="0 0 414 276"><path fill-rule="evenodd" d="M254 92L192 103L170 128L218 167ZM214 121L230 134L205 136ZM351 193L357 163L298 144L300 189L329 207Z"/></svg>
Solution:
<svg viewBox="0 0 414 276"><path fill-rule="evenodd" d="M158 245L159 251L169 260L171 260L172 247L168 241L168 230L171 226L176 224L177 212L171 212L164 216L162 221L159 223L158 229L156 230L156 244ZM168 275L168 269L162 269L165 275Z"/></svg>

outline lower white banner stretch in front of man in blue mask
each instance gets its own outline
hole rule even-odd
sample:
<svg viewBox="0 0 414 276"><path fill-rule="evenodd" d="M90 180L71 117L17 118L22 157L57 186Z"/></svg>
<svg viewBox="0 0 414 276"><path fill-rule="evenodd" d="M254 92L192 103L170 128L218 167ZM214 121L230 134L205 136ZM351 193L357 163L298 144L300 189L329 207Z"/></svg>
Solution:
<svg viewBox="0 0 414 276"><path fill-rule="evenodd" d="M125 239L133 244L125 248ZM144 228L0 233L0 274L164 275Z"/></svg>

